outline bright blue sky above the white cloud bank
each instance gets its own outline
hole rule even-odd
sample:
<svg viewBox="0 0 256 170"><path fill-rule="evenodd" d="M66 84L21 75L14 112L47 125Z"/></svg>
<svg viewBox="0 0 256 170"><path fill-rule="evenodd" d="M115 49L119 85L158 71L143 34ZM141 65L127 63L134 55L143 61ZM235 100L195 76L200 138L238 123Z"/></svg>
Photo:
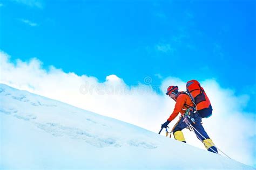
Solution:
<svg viewBox="0 0 256 170"><path fill-rule="evenodd" d="M12 60L129 84L216 79L255 105L255 1L0 1ZM248 111L255 111L248 107Z"/></svg>

